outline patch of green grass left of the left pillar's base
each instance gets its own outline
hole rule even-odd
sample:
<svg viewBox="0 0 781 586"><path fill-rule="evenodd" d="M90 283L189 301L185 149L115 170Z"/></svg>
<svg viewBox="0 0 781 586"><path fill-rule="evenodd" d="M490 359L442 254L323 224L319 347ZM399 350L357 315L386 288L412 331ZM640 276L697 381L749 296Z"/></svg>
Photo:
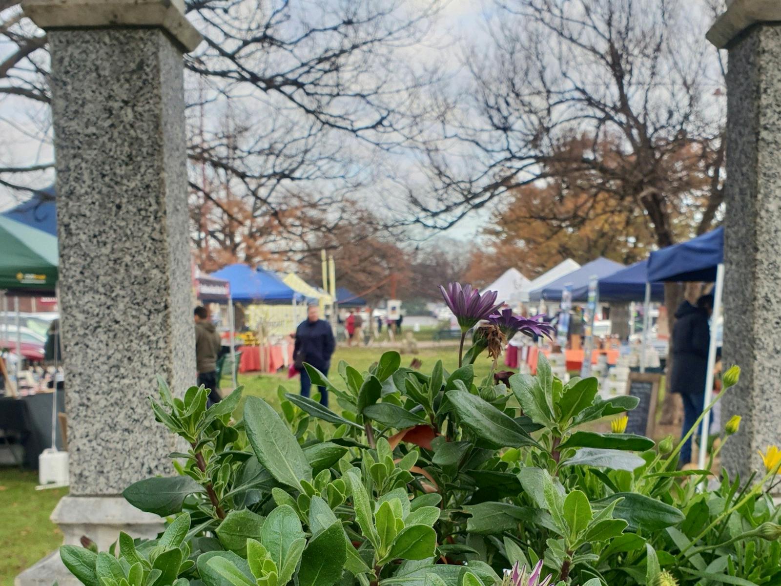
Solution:
<svg viewBox="0 0 781 586"><path fill-rule="evenodd" d="M62 545L62 533L48 519L67 488L36 491L37 472L0 468L0 586Z"/></svg>

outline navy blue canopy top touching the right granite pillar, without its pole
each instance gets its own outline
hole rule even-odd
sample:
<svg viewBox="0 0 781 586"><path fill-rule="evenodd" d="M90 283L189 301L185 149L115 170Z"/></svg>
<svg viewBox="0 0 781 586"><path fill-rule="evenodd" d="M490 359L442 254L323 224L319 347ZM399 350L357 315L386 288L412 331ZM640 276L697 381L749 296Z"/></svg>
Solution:
<svg viewBox="0 0 781 586"><path fill-rule="evenodd" d="M716 280L716 266L724 262L724 228L711 230L690 241L651 252L648 279Z"/></svg>

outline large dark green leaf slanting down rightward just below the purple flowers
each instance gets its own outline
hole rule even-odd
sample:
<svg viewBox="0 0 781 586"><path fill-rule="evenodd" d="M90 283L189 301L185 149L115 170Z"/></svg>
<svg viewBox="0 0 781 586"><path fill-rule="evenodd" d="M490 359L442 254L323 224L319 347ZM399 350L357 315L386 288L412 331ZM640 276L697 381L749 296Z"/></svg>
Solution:
<svg viewBox="0 0 781 586"><path fill-rule="evenodd" d="M540 447L512 417L468 391L449 391L448 398L465 427L497 448Z"/></svg>

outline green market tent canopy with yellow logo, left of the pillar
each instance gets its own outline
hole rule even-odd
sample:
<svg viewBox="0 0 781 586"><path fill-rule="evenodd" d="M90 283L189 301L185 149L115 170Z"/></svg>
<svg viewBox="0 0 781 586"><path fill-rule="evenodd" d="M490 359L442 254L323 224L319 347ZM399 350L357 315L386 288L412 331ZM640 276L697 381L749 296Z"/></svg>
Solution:
<svg viewBox="0 0 781 586"><path fill-rule="evenodd" d="M58 254L52 234L0 216L0 251L0 290L55 290Z"/></svg>

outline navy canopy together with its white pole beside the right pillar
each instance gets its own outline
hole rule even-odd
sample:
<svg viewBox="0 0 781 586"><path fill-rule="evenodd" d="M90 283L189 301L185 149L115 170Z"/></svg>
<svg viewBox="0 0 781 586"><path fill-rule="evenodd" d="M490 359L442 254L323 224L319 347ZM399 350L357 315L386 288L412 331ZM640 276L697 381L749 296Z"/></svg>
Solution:
<svg viewBox="0 0 781 586"><path fill-rule="evenodd" d="M653 282L706 281L715 283L713 289L713 316L708 348L708 371L704 388L704 405L710 404L713 395L714 368L716 362L716 338L724 290L724 228L697 236L690 241L651 252L648 258L649 288ZM704 417L700 436L699 467L705 466L710 417Z"/></svg>

